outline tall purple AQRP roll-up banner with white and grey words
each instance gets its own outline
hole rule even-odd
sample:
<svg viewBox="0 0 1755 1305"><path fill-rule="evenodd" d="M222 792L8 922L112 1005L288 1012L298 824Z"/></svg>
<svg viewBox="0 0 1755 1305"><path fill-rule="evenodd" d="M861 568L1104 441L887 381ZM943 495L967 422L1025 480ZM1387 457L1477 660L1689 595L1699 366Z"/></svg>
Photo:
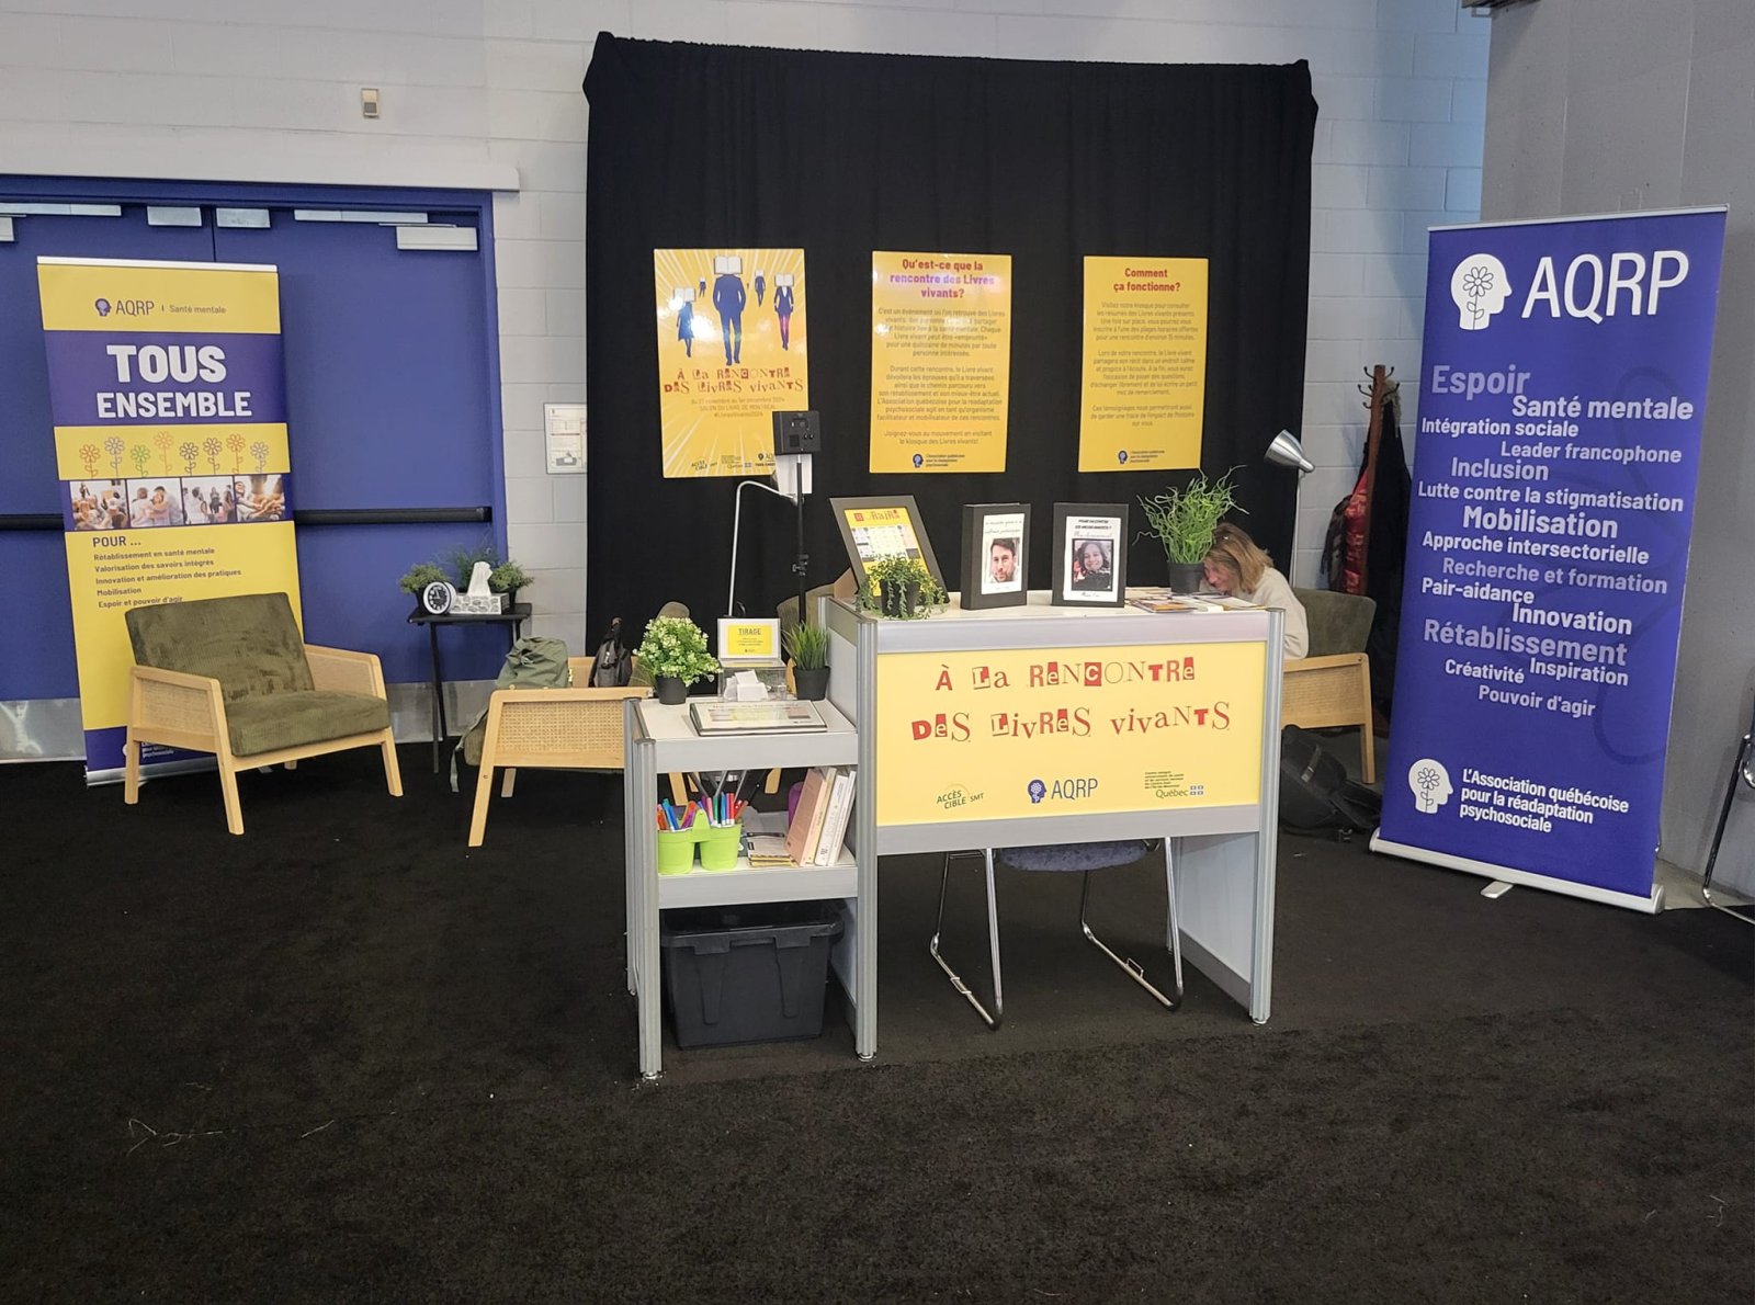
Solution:
<svg viewBox="0 0 1755 1305"><path fill-rule="evenodd" d="M1655 909L1723 232L1432 232L1374 847Z"/></svg>

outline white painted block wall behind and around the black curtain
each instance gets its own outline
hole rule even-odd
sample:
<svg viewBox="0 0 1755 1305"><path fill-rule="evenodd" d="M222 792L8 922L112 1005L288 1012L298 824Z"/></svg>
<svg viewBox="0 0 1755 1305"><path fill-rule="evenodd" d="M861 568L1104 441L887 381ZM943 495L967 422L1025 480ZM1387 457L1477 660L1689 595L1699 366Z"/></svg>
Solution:
<svg viewBox="0 0 1755 1305"><path fill-rule="evenodd" d="M0 0L0 168L377 184L495 202L507 530L537 628L584 630L581 477L542 403L584 400L584 147L597 32L913 54L1311 61L1311 581L1351 482L1360 368L1420 360L1425 228L1476 216L1488 23L1457 0ZM362 86L383 118L358 112ZM1069 360L1076 367L1078 360ZM1409 405L1411 409L1411 405ZM1265 435L1271 431L1264 431Z"/></svg>

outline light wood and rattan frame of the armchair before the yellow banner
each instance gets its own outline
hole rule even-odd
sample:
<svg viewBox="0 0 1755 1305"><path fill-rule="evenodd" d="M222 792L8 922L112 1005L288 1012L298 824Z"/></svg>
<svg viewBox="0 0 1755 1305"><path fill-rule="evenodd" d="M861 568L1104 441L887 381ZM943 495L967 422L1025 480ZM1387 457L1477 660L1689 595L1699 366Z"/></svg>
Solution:
<svg viewBox="0 0 1755 1305"><path fill-rule="evenodd" d="M305 644L305 661L311 665L312 686L335 693L360 693L386 698L384 672L372 652L349 652L340 647ZM239 756L232 751L226 733L225 693L219 681L207 675L186 675L158 667L133 667L128 688L128 740L123 744L123 802L130 807L140 800L140 745L163 744L195 752L212 752L219 763L219 793L225 798L225 824L232 833L244 833L244 809L237 798L239 767L291 768L307 756L344 752L351 747L379 747L384 754L384 782L390 795L402 796L402 770L397 767L397 738L384 730L325 738L298 747L277 747L272 752Z"/></svg>

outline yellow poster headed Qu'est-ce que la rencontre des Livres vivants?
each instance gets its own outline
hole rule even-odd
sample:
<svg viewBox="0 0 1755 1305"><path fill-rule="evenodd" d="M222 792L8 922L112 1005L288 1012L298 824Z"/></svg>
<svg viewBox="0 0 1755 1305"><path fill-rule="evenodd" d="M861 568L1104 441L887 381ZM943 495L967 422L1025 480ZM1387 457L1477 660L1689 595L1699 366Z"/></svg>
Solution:
<svg viewBox="0 0 1755 1305"><path fill-rule="evenodd" d="M1011 254L872 254L874 472L1004 472Z"/></svg>

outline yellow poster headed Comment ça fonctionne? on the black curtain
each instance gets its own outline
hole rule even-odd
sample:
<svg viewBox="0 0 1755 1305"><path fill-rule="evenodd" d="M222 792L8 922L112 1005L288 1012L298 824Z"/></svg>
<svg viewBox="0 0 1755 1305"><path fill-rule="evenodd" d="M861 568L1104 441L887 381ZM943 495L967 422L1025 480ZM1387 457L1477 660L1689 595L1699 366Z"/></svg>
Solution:
<svg viewBox="0 0 1755 1305"><path fill-rule="evenodd" d="M1079 470L1200 465L1207 260L1086 258Z"/></svg>

